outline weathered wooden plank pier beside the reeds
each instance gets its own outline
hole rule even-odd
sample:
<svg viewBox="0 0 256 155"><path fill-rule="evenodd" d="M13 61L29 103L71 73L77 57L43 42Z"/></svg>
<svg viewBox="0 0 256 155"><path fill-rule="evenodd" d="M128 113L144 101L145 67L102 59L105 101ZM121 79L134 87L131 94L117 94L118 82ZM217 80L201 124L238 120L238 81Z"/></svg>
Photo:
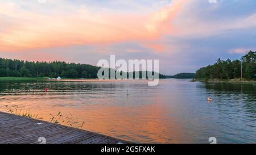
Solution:
<svg viewBox="0 0 256 155"><path fill-rule="evenodd" d="M123 144L127 141L82 129L0 112L0 143Z"/></svg>

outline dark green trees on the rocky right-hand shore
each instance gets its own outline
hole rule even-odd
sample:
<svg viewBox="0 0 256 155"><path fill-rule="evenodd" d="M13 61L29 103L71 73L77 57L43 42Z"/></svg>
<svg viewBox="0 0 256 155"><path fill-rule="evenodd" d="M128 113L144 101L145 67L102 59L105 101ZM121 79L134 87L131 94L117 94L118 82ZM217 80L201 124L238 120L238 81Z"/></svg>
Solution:
<svg viewBox="0 0 256 155"><path fill-rule="evenodd" d="M233 79L241 78L241 62L242 62L242 78L248 80L254 78L256 74L256 52L250 51L240 60L231 61L220 60L213 65L208 65L196 71L195 78L203 79Z"/></svg>

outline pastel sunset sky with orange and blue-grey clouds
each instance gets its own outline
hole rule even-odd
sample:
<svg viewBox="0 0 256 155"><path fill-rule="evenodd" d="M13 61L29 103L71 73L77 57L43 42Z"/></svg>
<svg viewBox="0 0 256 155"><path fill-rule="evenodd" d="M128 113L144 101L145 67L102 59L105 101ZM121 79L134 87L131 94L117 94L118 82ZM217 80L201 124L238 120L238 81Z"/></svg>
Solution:
<svg viewBox="0 0 256 155"><path fill-rule="evenodd" d="M0 57L195 72L256 51L255 0L0 0Z"/></svg>

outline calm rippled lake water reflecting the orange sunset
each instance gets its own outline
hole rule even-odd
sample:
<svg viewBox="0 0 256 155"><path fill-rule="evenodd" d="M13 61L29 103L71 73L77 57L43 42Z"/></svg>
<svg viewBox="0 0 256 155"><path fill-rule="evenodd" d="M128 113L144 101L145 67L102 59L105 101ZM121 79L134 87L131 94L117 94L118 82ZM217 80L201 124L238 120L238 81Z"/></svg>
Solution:
<svg viewBox="0 0 256 155"><path fill-rule="evenodd" d="M256 85L251 84L0 82L1 111L5 105L44 120L59 110L71 113L85 121L83 129L135 143L209 143L209 137L217 143L256 143Z"/></svg>

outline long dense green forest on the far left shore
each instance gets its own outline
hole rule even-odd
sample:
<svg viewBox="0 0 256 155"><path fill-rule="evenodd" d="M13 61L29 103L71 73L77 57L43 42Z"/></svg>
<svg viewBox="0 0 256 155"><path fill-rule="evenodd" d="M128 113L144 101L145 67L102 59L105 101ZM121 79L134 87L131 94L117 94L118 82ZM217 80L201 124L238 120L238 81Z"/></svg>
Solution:
<svg viewBox="0 0 256 155"><path fill-rule="evenodd" d="M35 62L0 58L0 77L56 78L60 76L61 78L97 78L99 69L100 67L93 65L67 63L64 61ZM141 71L139 72L140 77L142 73ZM153 72L152 74L154 75L155 73ZM135 72L133 75L135 76ZM159 74L159 78L166 77L163 74Z"/></svg>

